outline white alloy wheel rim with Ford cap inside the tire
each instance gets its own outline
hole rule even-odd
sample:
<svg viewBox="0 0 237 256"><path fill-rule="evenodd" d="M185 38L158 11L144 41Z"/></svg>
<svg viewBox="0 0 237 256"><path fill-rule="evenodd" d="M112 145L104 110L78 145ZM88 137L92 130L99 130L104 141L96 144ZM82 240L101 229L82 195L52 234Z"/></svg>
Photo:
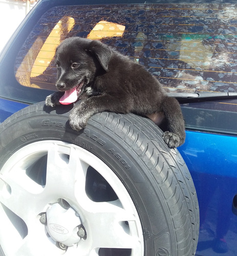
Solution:
<svg viewBox="0 0 237 256"><path fill-rule="evenodd" d="M103 248L144 255L131 196L110 167L77 145L45 140L21 147L1 170L0 191L6 255L107 255Z"/></svg>

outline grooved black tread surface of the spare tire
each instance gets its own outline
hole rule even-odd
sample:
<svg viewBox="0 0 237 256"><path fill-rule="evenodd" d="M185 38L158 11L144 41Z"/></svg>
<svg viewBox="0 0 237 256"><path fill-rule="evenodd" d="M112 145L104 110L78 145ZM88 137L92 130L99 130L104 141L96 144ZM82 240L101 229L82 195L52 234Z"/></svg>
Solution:
<svg viewBox="0 0 237 256"><path fill-rule="evenodd" d="M107 120L108 114L113 116L111 122ZM100 113L99 116L93 116L91 120L98 122L98 118L106 129L110 129L141 158L161 190L166 191L163 192L163 197L168 208L172 209L178 205L179 212L170 210L180 252L178 255L195 255L199 235L199 206L194 184L178 150L170 150L166 146L162 139L162 131L147 118L133 114ZM133 127L136 127L137 131ZM160 167L161 163L162 167ZM158 175L154 175L157 169L161 169L160 179Z"/></svg>

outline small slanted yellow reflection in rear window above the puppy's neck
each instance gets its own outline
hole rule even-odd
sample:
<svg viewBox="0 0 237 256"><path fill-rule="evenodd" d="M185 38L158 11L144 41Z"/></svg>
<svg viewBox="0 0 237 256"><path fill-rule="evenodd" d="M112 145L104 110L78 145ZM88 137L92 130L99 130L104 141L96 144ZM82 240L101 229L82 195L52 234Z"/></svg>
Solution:
<svg viewBox="0 0 237 256"><path fill-rule="evenodd" d="M87 36L89 39L102 39L106 37L122 37L125 26L101 20Z"/></svg>

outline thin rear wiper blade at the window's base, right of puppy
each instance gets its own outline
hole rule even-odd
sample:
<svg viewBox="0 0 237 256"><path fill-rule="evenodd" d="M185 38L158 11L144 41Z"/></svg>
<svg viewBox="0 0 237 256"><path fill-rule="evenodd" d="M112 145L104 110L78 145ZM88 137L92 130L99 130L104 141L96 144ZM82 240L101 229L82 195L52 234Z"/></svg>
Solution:
<svg viewBox="0 0 237 256"><path fill-rule="evenodd" d="M191 99L209 99L209 98L237 98L237 92L202 92L202 93L167 93L169 97L175 97L180 100Z"/></svg>

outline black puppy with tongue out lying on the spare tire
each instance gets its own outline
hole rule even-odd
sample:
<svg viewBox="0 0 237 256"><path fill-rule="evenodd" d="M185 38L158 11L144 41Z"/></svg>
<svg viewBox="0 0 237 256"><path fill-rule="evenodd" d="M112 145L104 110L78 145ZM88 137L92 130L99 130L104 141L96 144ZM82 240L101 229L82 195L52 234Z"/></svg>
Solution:
<svg viewBox="0 0 237 256"><path fill-rule="evenodd" d="M185 128L179 102L168 97L159 81L139 63L100 41L71 37L58 46L55 92L46 105L70 104L81 99L69 116L76 131L99 112L135 113L156 123L161 113L168 131L163 135L169 147L184 143Z"/></svg>

